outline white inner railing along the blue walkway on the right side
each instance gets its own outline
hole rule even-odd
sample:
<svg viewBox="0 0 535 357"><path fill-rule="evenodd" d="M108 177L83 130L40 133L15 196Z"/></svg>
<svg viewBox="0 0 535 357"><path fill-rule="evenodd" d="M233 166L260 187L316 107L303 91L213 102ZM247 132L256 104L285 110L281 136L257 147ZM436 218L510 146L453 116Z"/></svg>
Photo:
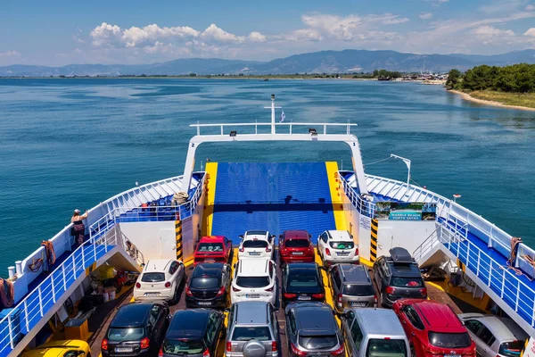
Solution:
<svg viewBox="0 0 535 357"><path fill-rule="evenodd" d="M463 262L482 284L490 287L502 303L506 303L519 314L531 328L535 328L535 290L466 237L465 228L454 227L447 221L440 222L438 228L440 243Z"/></svg>

